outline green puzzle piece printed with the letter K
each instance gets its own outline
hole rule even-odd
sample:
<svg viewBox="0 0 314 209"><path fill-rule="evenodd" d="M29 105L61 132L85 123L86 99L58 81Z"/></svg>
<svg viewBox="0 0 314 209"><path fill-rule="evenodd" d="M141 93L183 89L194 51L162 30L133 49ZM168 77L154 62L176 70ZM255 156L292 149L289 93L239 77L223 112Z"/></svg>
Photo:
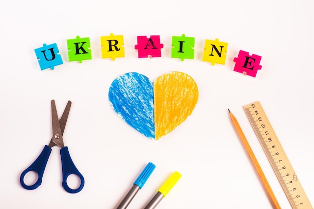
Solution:
<svg viewBox="0 0 314 209"><path fill-rule="evenodd" d="M92 59L89 37L76 36L74 39L67 39L69 61L79 61Z"/></svg>

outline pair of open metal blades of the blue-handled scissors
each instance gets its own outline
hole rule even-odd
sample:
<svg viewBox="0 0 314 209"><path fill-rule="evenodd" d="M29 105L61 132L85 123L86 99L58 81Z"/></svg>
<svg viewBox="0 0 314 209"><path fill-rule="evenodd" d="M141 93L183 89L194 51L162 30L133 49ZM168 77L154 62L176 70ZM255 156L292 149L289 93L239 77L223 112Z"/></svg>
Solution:
<svg viewBox="0 0 314 209"><path fill-rule="evenodd" d="M62 134L69 115L70 107L71 101L68 101L67 106L65 107L65 110L59 121L55 100L51 100L52 139L49 143L50 147L53 146L54 144L60 147L64 147Z"/></svg>

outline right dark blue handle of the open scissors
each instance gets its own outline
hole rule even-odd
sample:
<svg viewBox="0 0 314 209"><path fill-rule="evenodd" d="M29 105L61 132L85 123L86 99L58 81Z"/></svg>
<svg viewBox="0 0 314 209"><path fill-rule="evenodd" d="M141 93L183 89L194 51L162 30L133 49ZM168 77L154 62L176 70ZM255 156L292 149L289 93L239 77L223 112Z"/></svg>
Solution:
<svg viewBox="0 0 314 209"><path fill-rule="evenodd" d="M85 183L84 177L74 165L67 146L60 149L60 154L61 154L61 164L62 164L62 186L69 193L77 193L80 190L82 190L84 186L84 183ZM75 174L79 176L79 178L81 179L81 184L77 189L72 189L67 184L67 178L71 174Z"/></svg>

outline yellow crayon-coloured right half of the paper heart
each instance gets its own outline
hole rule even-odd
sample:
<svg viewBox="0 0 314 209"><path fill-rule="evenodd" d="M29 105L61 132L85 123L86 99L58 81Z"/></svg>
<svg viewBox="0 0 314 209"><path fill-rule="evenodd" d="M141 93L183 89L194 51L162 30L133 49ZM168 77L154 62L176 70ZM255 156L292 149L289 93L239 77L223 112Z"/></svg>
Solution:
<svg viewBox="0 0 314 209"><path fill-rule="evenodd" d="M168 134L193 112L199 98L194 79L173 71L153 82L155 140Z"/></svg>

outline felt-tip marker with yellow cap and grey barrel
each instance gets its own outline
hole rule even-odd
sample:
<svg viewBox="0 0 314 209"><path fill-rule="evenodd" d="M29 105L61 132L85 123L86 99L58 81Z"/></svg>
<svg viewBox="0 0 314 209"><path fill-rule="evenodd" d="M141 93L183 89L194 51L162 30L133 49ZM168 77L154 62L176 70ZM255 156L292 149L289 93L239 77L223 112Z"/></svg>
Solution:
<svg viewBox="0 0 314 209"><path fill-rule="evenodd" d="M168 192L174 187L174 185L181 178L181 174L178 171L175 171L166 182L160 187L158 192L154 195L154 197L149 201L149 203L145 206L144 209L153 209L155 208L159 202L168 194Z"/></svg>

